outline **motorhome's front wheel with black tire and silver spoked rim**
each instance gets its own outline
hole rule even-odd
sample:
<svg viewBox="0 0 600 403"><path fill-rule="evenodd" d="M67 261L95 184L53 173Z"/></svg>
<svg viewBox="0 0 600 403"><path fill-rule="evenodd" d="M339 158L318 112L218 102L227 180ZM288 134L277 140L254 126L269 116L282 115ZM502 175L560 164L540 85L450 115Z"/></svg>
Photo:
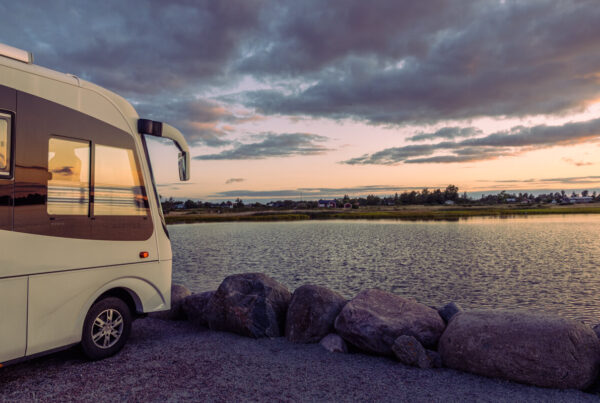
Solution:
<svg viewBox="0 0 600 403"><path fill-rule="evenodd" d="M85 317L81 349L90 360L101 360L123 348L131 333L131 312L116 297L96 302Z"/></svg>

